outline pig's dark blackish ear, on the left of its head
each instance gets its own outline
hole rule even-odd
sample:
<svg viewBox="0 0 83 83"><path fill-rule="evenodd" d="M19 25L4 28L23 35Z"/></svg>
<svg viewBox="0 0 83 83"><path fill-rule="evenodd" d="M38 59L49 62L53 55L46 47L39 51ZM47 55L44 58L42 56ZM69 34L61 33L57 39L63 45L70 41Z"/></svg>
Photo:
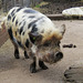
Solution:
<svg viewBox="0 0 83 83"><path fill-rule="evenodd" d="M42 40L42 35L39 33L29 33L29 38L32 43L35 43Z"/></svg>

